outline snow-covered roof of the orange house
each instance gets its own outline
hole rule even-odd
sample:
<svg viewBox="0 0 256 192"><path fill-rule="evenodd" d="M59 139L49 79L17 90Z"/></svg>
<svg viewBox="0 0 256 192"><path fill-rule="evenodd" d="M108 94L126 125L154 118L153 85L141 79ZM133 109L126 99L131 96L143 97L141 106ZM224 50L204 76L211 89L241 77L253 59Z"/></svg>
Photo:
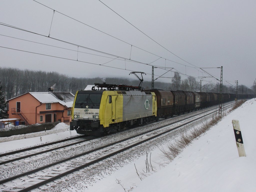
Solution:
<svg viewBox="0 0 256 192"><path fill-rule="evenodd" d="M60 103L61 105L67 108L72 107L72 104L74 101L74 95L71 92L28 92L28 93L31 94L40 103Z"/></svg>

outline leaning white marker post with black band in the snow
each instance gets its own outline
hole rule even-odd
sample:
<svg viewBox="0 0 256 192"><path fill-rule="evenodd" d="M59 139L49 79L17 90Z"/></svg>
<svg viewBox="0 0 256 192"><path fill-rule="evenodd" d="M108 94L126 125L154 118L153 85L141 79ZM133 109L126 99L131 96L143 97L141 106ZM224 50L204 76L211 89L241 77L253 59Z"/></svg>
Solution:
<svg viewBox="0 0 256 192"><path fill-rule="evenodd" d="M232 123L233 123L234 134L237 142L237 150L238 150L239 157L246 157L239 121L232 120Z"/></svg>

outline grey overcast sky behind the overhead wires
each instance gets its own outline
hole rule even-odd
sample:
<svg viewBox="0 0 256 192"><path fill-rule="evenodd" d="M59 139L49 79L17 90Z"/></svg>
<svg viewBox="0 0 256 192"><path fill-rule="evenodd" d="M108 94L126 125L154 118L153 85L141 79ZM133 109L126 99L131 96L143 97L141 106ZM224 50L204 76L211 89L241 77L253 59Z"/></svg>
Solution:
<svg viewBox="0 0 256 192"><path fill-rule="evenodd" d="M226 83L229 81L235 85L234 81L238 80L250 88L256 78L255 0L102 0L168 51L100 1L37 2L0 1L0 66L88 78L135 78L129 73L141 71L147 73L144 80L151 81L151 65L154 65L166 67L154 70L155 79L174 68L163 76L172 77L174 71L178 71L182 79L186 75L207 77L202 79L202 84L218 81L199 68L210 68L204 70L220 79L220 69L216 67L223 66L223 84L229 85ZM157 81L170 82L171 79Z"/></svg>

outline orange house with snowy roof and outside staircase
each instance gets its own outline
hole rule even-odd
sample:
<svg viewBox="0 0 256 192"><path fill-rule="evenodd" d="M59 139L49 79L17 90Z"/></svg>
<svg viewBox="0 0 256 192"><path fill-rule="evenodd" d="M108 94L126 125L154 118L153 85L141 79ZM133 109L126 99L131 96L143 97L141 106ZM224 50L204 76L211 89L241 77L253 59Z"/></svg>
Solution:
<svg viewBox="0 0 256 192"><path fill-rule="evenodd" d="M8 118L24 124L71 121L74 95L70 92L28 92L7 100Z"/></svg>

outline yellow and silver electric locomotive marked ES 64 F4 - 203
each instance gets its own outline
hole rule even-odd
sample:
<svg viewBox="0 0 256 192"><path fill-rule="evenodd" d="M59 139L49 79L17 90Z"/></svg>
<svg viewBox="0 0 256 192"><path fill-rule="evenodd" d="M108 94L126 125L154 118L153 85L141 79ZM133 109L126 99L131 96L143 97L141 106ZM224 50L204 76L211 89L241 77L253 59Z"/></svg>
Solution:
<svg viewBox="0 0 256 192"><path fill-rule="evenodd" d="M70 130L83 135L102 135L133 124L155 119L156 95L141 87L97 84L92 90L77 91Z"/></svg>

